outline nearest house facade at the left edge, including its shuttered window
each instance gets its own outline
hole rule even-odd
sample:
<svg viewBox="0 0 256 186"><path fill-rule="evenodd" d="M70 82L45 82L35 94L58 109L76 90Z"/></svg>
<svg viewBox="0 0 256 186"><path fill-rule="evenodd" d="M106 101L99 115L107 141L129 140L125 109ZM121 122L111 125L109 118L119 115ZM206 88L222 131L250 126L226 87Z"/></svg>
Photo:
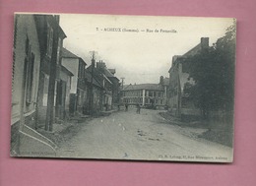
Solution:
<svg viewBox="0 0 256 186"><path fill-rule="evenodd" d="M13 56L12 124L25 115L26 123L34 127L40 47L33 16L16 15Z"/></svg>

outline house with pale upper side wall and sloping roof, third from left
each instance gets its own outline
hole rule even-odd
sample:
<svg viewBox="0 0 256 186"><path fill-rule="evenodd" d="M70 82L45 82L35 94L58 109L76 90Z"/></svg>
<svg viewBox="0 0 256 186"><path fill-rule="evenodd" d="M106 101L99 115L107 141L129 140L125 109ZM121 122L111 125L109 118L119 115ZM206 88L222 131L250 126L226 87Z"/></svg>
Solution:
<svg viewBox="0 0 256 186"><path fill-rule="evenodd" d="M88 88L86 79L87 63L81 57L75 55L66 48L62 48L61 64L74 75L71 78L69 112L72 115L74 115L75 112L85 114L84 107L88 104Z"/></svg>

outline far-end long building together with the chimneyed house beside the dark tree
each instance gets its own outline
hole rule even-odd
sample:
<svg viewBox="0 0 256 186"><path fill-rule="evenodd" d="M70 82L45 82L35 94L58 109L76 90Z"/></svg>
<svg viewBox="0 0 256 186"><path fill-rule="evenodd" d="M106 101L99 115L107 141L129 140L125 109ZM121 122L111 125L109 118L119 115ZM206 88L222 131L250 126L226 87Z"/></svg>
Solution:
<svg viewBox="0 0 256 186"><path fill-rule="evenodd" d="M122 102L125 104L141 104L144 107L165 108L172 115L181 117L199 116L200 109L189 99L184 90L195 85L189 77L189 67L185 59L199 54L209 48L209 37L202 37L200 42L183 55L172 57L169 77L160 77L159 84L140 84L124 86L121 90Z"/></svg>

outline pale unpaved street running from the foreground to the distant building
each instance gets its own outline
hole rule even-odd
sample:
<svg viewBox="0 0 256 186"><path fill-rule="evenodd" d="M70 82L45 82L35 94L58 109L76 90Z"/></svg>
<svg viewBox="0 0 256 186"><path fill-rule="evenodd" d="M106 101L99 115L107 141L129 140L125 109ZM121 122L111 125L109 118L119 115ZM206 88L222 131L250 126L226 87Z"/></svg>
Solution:
<svg viewBox="0 0 256 186"><path fill-rule="evenodd" d="M193 133L202 129L172 125L159 115L160 110L135 108L112 113L82 123L82 130L62 143L57 156L229 161L232 149L199 139Z"/></svg>

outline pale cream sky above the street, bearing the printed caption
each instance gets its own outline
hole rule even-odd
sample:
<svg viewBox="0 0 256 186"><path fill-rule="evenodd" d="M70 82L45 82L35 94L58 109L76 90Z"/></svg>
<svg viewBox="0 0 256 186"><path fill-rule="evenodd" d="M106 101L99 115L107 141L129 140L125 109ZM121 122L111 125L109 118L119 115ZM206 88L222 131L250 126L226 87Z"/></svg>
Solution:
<svg viewBox="0 0 256 186"><path fill-rule="evenodd" d="M210 45L233 24L228 18L114 15L60 16L63 46L91 65L102 60L124 84L158 84L168 77L173 55L182 55L209 37Z"/></svg>

